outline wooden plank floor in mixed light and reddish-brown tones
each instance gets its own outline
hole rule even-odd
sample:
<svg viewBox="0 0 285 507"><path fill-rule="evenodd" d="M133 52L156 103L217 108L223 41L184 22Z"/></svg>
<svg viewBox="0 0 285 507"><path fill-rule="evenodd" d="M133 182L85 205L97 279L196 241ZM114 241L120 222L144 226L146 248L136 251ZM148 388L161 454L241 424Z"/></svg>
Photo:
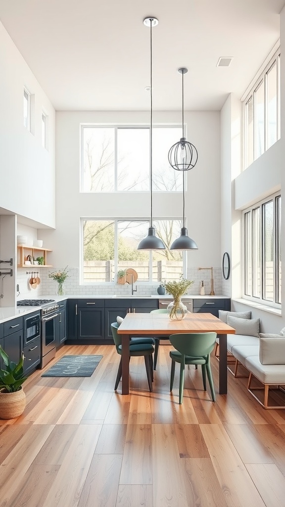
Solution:
<svg viewBox="0 0 285 507"><path fill-rule="evenodd" d="M169 350L160 346L152 393L135 357L131 393L114 392L112 345L65 346L46 367L103 354L90 378L32 374L24 414L0 421L0 507L284 507L285 410L264 410L231 375L212 403L194 366L179 405Z"/></svg>

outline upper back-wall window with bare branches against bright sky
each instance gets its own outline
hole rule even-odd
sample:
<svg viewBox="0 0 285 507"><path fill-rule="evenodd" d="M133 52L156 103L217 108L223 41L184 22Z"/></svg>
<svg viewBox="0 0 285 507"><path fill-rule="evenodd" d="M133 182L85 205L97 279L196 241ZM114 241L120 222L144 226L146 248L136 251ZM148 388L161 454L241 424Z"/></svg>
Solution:
<svg viewBox="0 0 285 507"><path fill-rule="evenodd" d="M181 127L153 128L153 190L182 191L182 174L168 163ZM81 192L150 190L149 127L81 127Z"/></svg>

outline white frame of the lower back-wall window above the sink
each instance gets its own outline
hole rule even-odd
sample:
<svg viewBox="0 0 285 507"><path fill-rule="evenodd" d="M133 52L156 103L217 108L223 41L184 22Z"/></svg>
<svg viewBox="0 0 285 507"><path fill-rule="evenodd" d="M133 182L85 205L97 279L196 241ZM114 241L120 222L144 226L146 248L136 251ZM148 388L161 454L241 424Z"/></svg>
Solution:
<svg viewBox="0 0 285 507"><path fill-rule="evenodd" d="M170 221L177 221L177 220L180 220L181 222L183 221L183 218L182 217L167 217L167 218L153 218L153 222L155 221L163 221L163 220L168 220L169 222ZM80 218L80 285L88 285L88 286L92 286L92 285L101 285L101 286L114 286L114 285L117 285L117 282L116 282L116 279L117 279L117 267L118 267L118 232L116 230L116 225L115 225L115 252L114 252L114 263L115 263L115 273L114 273L114 281L110 281L110 282L87 282L84 280L84 245L83 245L83 223L85 221L98 221L98 222L103 222L103 221L106 221L106 222L109 222L109 221L112 221L114 222L114 224L118 223L118 222L122 222L122 221L128 221L128 222L146 222L146 235L147 235L147 232L148 232L148 227L149 227L149 222L150 222L150 219L149 217L147 218L126 218L126 217L111 217L111 216L108 216L108 218L106 216L104 217L81 217ZM186 224L186 227L187 227L187 224ZM187 278L187 251L186 250L183 250L183 253L182 253L182 260L183 260L183 277L184 278ZM159 283L157 280L153 280L152 279L152 274L153 274L153 262L152 262L152 251L150 250L150 260L149 260L149 273L150 273L150 280L138 280L136 282L136 284L138 285L157 285L157 283Z"/></svg>

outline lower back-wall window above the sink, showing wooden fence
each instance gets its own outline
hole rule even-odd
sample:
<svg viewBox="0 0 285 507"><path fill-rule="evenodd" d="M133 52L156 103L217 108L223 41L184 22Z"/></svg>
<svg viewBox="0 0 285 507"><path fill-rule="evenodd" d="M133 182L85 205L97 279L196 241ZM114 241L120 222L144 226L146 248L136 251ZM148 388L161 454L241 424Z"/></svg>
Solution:
<svg viewBox="0 0 285 507"><path fill-rule="evenodd" d="M180 220L154 220L166 250L137 250L149 221L82 220L83 283L117 282L118 270L133 268L138 282L158 282L186 276L185 252L169 250L180 236Z"/></svg>

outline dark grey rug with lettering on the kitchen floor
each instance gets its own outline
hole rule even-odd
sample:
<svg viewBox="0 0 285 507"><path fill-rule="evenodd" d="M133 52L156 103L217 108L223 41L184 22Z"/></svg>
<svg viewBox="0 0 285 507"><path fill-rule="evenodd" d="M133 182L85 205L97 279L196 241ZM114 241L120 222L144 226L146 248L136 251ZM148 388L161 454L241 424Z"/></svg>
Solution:
<svg viewBox="0 0 285 507"><path fill-rule="evenodd" d="M91 377L102 355L64 355L42 377Z"/></svg>

